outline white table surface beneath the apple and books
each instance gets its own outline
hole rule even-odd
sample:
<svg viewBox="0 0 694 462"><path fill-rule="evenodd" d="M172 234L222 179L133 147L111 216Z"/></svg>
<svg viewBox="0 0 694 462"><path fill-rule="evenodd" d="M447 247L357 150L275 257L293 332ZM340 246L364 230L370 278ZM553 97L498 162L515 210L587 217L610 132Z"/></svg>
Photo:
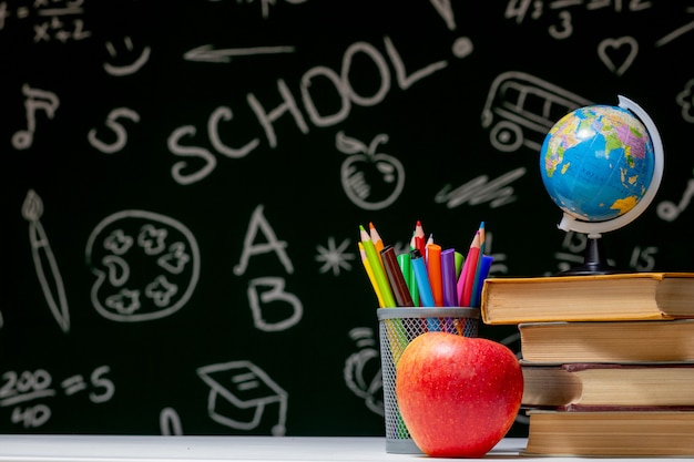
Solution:
<svg viewBox="0 0 694 462"><path fill-rule="evenodd" d="M571 458L519 455L525 439L504 439L487 456L570 461ZM0 435L1 462L212 462L320 461L400 462L428 459L421 454L387 453L384 438L313 437L118 437L118 435ZM445 461L447 459L431 459ZM450 460L450 459L449 459ZM471 460L471 459L467 459ZM473 459L472 459L473 460ZM600 461L603 459L591 459ZM606 460L606 459L604 459ZM625 461L626 459L620 459ZM643 462L646 459L639 459ZM671 461L672 459L647 459ZM460 461L460 460L458 460Z"/></svg>

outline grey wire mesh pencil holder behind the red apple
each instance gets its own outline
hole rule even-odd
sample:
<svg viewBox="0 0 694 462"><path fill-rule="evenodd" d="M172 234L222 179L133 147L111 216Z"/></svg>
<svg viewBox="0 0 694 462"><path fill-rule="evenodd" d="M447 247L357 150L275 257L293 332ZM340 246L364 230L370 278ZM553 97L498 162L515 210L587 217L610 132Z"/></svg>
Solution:
<svg viewBox="0 0 694 462"><path fill-rule="evenodd" d="M479 308L378 308L378 336L386 420L386 452L421 453L412 441L396 398L396 365L405 348L416 337L430 331L443 331L477 337Z"/></svg>

